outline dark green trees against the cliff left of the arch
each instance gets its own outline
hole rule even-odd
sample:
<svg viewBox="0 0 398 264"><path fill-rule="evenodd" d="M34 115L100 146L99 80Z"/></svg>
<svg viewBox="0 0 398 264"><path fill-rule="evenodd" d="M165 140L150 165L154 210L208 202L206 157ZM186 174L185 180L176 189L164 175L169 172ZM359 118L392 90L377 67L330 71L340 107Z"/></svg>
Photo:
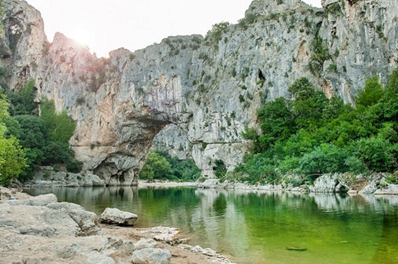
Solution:
<svg viewBox="0 0 398 264"><path fill-rule="evenodd" d="M12 144L19 142L22 147L24 160L20 162L21 170L15 170L19 179L31 178L35 167L40 165L56 167L63 164L71 172L80 171L82 163L74 160L74 152L68 145L76 122L68 117L66 111L57 114L54 102L45 100L38 117L37 103L33 101L36 97L33 81L29 81L22 91L10 92L9 95L10 112L14 116L3 118L1 123L5 124L6 129L2 132L7 140L14 140ZM0 101L0 108L1 105ZM17 158L15 160L18 161Z"/></svg>

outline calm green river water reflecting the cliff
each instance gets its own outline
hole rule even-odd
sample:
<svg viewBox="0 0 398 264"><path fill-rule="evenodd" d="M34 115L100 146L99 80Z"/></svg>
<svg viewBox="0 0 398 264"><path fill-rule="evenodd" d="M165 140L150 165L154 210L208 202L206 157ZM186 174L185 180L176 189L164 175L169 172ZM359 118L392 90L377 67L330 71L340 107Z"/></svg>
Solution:
<svg viewBox="0 0 398 264"><path fill-rule="evenodd" d="M180 228L191 245L237 263L398 263L398 196L202 190L191 187L33 188L100 214L117 207L136 227ZM288 251L287 247L306 248Z"/></svg>

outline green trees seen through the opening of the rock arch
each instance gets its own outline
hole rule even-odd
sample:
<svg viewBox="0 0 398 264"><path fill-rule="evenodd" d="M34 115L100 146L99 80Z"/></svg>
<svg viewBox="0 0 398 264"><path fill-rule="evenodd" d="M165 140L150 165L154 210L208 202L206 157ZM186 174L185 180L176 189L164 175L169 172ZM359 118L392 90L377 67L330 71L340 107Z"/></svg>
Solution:
<svg viewBox="0 0 398 264"><path fill-rule="evenodd" d="M151 151L139 176L148 180L195 181L200 176L200 170L192 159L181 161L177 157L171 157L167 152Z"/></svg>

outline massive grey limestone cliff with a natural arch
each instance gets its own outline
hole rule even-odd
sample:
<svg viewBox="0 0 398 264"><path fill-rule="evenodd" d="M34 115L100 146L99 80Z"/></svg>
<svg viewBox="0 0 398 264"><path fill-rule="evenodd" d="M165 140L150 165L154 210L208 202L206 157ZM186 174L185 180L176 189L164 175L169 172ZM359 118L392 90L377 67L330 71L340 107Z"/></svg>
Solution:
<svg viewBox="0 0 398 264"><path fill-rule="evenodd" d="M298 78L347 103L367 78L387 82L398 61L396 0L322 4L256 0L239 24L219 34L169 37L103 59L60 33L48 43L40 13L5 0L1 64L12 73L9 89L33 78L38 100L53 99L77 120L70 144L84 169L107 184L135 184L159 132L156 145L166 143L172 154L184 149L181 155L212 177L216 160L228 170L242 161L245 125L258 128L257 109L289 98ZM315 70L308 67L319 57L314 39L327 51ZM168 125L174 130L162 132Z"/></svg>

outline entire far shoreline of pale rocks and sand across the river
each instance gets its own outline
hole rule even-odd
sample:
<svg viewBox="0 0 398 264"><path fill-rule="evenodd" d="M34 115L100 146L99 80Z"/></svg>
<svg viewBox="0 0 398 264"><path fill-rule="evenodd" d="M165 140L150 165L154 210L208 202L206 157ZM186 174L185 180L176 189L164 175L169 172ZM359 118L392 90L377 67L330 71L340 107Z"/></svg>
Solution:
<svg viewBox="0 0 398 264"><path fill-rule="evenodd" d="M197 186L199 188L214 189L243 189L243 190L270 190L270 191L298 191L298 192L336 192L336 193L363 193L363 194L398 194L398 184L389 183L389 178L397 177L388 173L373 173L371 175L354 175L350 173L324 174L316 178L313 184L303 183L303 177L287 175L281 182L272 184L251 184L208 177L196 182L152 181L138 180L138 187L177 187ZM203 178L202 178L203 179ZM117 184L115 184L117 185ZM85 172L73 174L55 172L52 167L42 167L34 179L21 183L14 181L13 187L81 187L81 186L108 186L100 176Z"/></svg>

